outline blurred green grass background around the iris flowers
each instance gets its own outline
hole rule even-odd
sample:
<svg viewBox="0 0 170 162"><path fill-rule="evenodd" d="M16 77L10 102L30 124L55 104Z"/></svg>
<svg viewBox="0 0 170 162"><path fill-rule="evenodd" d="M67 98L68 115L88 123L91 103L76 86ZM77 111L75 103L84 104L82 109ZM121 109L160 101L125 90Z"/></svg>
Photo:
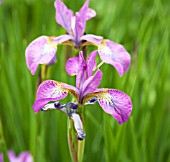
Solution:
<svg viewBox="0 0 170 162"><path fill-rule="evenodd" d="M63 1L73 11L84 3ZM132 59L122 78L103 65L100 87L129 94L133 111L119 125L98 104L86 106L84 162L170 162L169 6L168 0L90 1L97 16L87 22L86 33L123 44ZM33 39L64 33L55 21L54 0L4 0L0 5L0 152L30 150L35 162L71 160L67 116L59 111L34 114L38 72L32 76L25 62L25 48ZM74 85L75 78L65 72L67 52L58 47L49 78Z"/></svg>

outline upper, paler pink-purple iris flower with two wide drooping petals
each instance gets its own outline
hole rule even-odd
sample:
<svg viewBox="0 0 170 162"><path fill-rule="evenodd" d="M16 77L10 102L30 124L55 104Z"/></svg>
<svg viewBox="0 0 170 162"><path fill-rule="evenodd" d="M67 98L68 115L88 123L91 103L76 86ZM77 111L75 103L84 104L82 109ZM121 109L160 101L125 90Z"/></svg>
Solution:
<svg viewBox="0 0 170 162"><path fill-rule="evenodd" d="M39 64L49 65L56 61L57 46L61 44L78 49L86 45L97 46L101 60L114 66L120 76L128 70L130 55L122 45L101 36L84 34L86 21L96 16L96 12L88 5L89 0L86 0L80 11L74 15L61 0L55 1L56 22L67 34L58 37L40 36L28 45L25 52L26 63L32 75L36 73Z"/></svg>

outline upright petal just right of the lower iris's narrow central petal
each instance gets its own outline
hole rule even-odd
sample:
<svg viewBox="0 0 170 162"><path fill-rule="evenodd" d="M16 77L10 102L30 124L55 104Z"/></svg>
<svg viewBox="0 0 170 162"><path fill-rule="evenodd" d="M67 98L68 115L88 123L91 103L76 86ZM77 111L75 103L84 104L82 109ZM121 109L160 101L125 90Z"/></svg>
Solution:
<svg viewBox="0 0 170 162"><path fill-rule="evenodd" d="M92 76L93 70L96 68L96 55L98 51L95 50L90 53L90 56L88 57L86 63L87 63L87 74L88 78Z"/></svg>

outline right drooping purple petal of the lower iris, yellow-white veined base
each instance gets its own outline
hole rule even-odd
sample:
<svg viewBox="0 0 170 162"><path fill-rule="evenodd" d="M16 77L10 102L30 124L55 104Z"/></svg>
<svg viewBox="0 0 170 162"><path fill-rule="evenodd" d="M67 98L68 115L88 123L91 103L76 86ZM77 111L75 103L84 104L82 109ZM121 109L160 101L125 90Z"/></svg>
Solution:
<svg viewBox="0 0 170 162"><path fill-rule="evenodd" d="M127 122L132 111L130 97L122 91L115 89L99 89L84 97L83 103L89 99L97 97L103 110L111 114L119 124Z"/></svg>

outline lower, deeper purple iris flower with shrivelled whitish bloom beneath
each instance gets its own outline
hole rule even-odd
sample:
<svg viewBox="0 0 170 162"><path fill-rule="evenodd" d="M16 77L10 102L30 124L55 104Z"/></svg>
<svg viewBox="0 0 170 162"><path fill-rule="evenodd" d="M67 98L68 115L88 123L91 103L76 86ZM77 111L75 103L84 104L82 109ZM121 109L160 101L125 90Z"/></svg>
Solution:
<svg viewBox="0 0 170 162"><path fill-rule="evenodd" d="M119 124L128 121L132 111L130 97L116 89L98 89L102 72L96 68L97 53L98 51L93 51L87 61L82 52L79 53L79 56L68 59L66 71L69 75L76 75L76 87L54 80L42 82L38 87L36 101L33 104L34 111L37 113L40 110L59 109L71 116L74 123L77 124L78 120L72 117L76 114L77 109L82 105L98 102L102 109L111 114ZM64 99L68 93L73 96L75 102L61 105L59 100ZM78 122L78 125L83 134L81 122Z"/></svg>

